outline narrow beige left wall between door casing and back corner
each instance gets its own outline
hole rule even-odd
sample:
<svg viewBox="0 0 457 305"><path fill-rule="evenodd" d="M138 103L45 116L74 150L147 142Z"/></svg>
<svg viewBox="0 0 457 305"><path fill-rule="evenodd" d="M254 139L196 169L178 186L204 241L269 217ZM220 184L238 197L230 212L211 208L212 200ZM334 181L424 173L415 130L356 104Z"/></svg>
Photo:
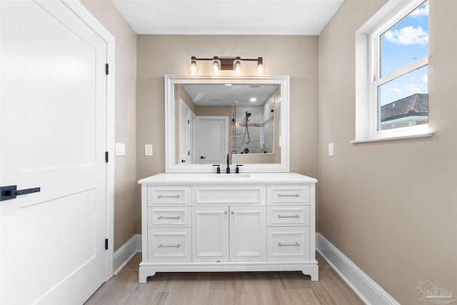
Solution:
<svg viewBox="0 0 457 305"><path fill-rule="evenodd" d="M138 233L136 193L136 34L109 0L81 0L116 39L115 141L126 144L115 159L114 251Z"/></svg>

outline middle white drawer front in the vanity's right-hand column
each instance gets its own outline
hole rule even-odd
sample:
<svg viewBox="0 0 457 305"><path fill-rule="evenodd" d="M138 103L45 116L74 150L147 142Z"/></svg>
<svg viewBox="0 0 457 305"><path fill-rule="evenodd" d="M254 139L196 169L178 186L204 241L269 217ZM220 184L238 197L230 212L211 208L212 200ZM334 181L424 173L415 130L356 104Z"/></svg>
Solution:
<svg viewBox="0 0 457 305"><path fill-rule="evenodd" d="M268 206L267 226L309 226L309 206Z"/></svg>

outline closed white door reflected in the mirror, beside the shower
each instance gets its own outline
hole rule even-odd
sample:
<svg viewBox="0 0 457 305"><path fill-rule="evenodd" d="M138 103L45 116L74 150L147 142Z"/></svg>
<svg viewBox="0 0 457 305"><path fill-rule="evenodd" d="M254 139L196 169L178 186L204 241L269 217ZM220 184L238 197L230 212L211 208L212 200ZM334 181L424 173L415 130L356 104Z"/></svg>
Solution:
<svg viewBox="0 0 457 305"><path fill-rule="evenodd" d="M229 151L229 117L197 116L196 136L196 158L199 164L226 164Z"/></svg>

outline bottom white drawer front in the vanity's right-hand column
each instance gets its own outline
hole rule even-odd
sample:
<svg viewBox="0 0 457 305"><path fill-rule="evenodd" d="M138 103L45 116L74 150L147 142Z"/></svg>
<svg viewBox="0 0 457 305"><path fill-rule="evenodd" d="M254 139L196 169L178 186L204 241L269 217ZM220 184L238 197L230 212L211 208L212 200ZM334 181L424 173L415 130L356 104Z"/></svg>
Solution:
<svg viewBox="0 0 457 305"><path fill-rule="evenodd" d="M308 261L309 260L309 227L268 227L267 260L268 261Z"/></svg>

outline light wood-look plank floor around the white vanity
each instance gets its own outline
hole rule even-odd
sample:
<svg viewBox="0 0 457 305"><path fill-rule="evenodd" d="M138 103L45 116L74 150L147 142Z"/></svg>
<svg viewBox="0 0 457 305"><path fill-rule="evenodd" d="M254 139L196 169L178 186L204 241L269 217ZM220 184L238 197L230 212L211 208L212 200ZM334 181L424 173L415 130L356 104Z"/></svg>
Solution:
<svg viewBox="0 0 457 305"><path fill-rule="evenodd" d="M357 305L363 301L318 256L319 281L298 272L157 273L138 283L141 254L86 302L164 305Z"/></svg>

